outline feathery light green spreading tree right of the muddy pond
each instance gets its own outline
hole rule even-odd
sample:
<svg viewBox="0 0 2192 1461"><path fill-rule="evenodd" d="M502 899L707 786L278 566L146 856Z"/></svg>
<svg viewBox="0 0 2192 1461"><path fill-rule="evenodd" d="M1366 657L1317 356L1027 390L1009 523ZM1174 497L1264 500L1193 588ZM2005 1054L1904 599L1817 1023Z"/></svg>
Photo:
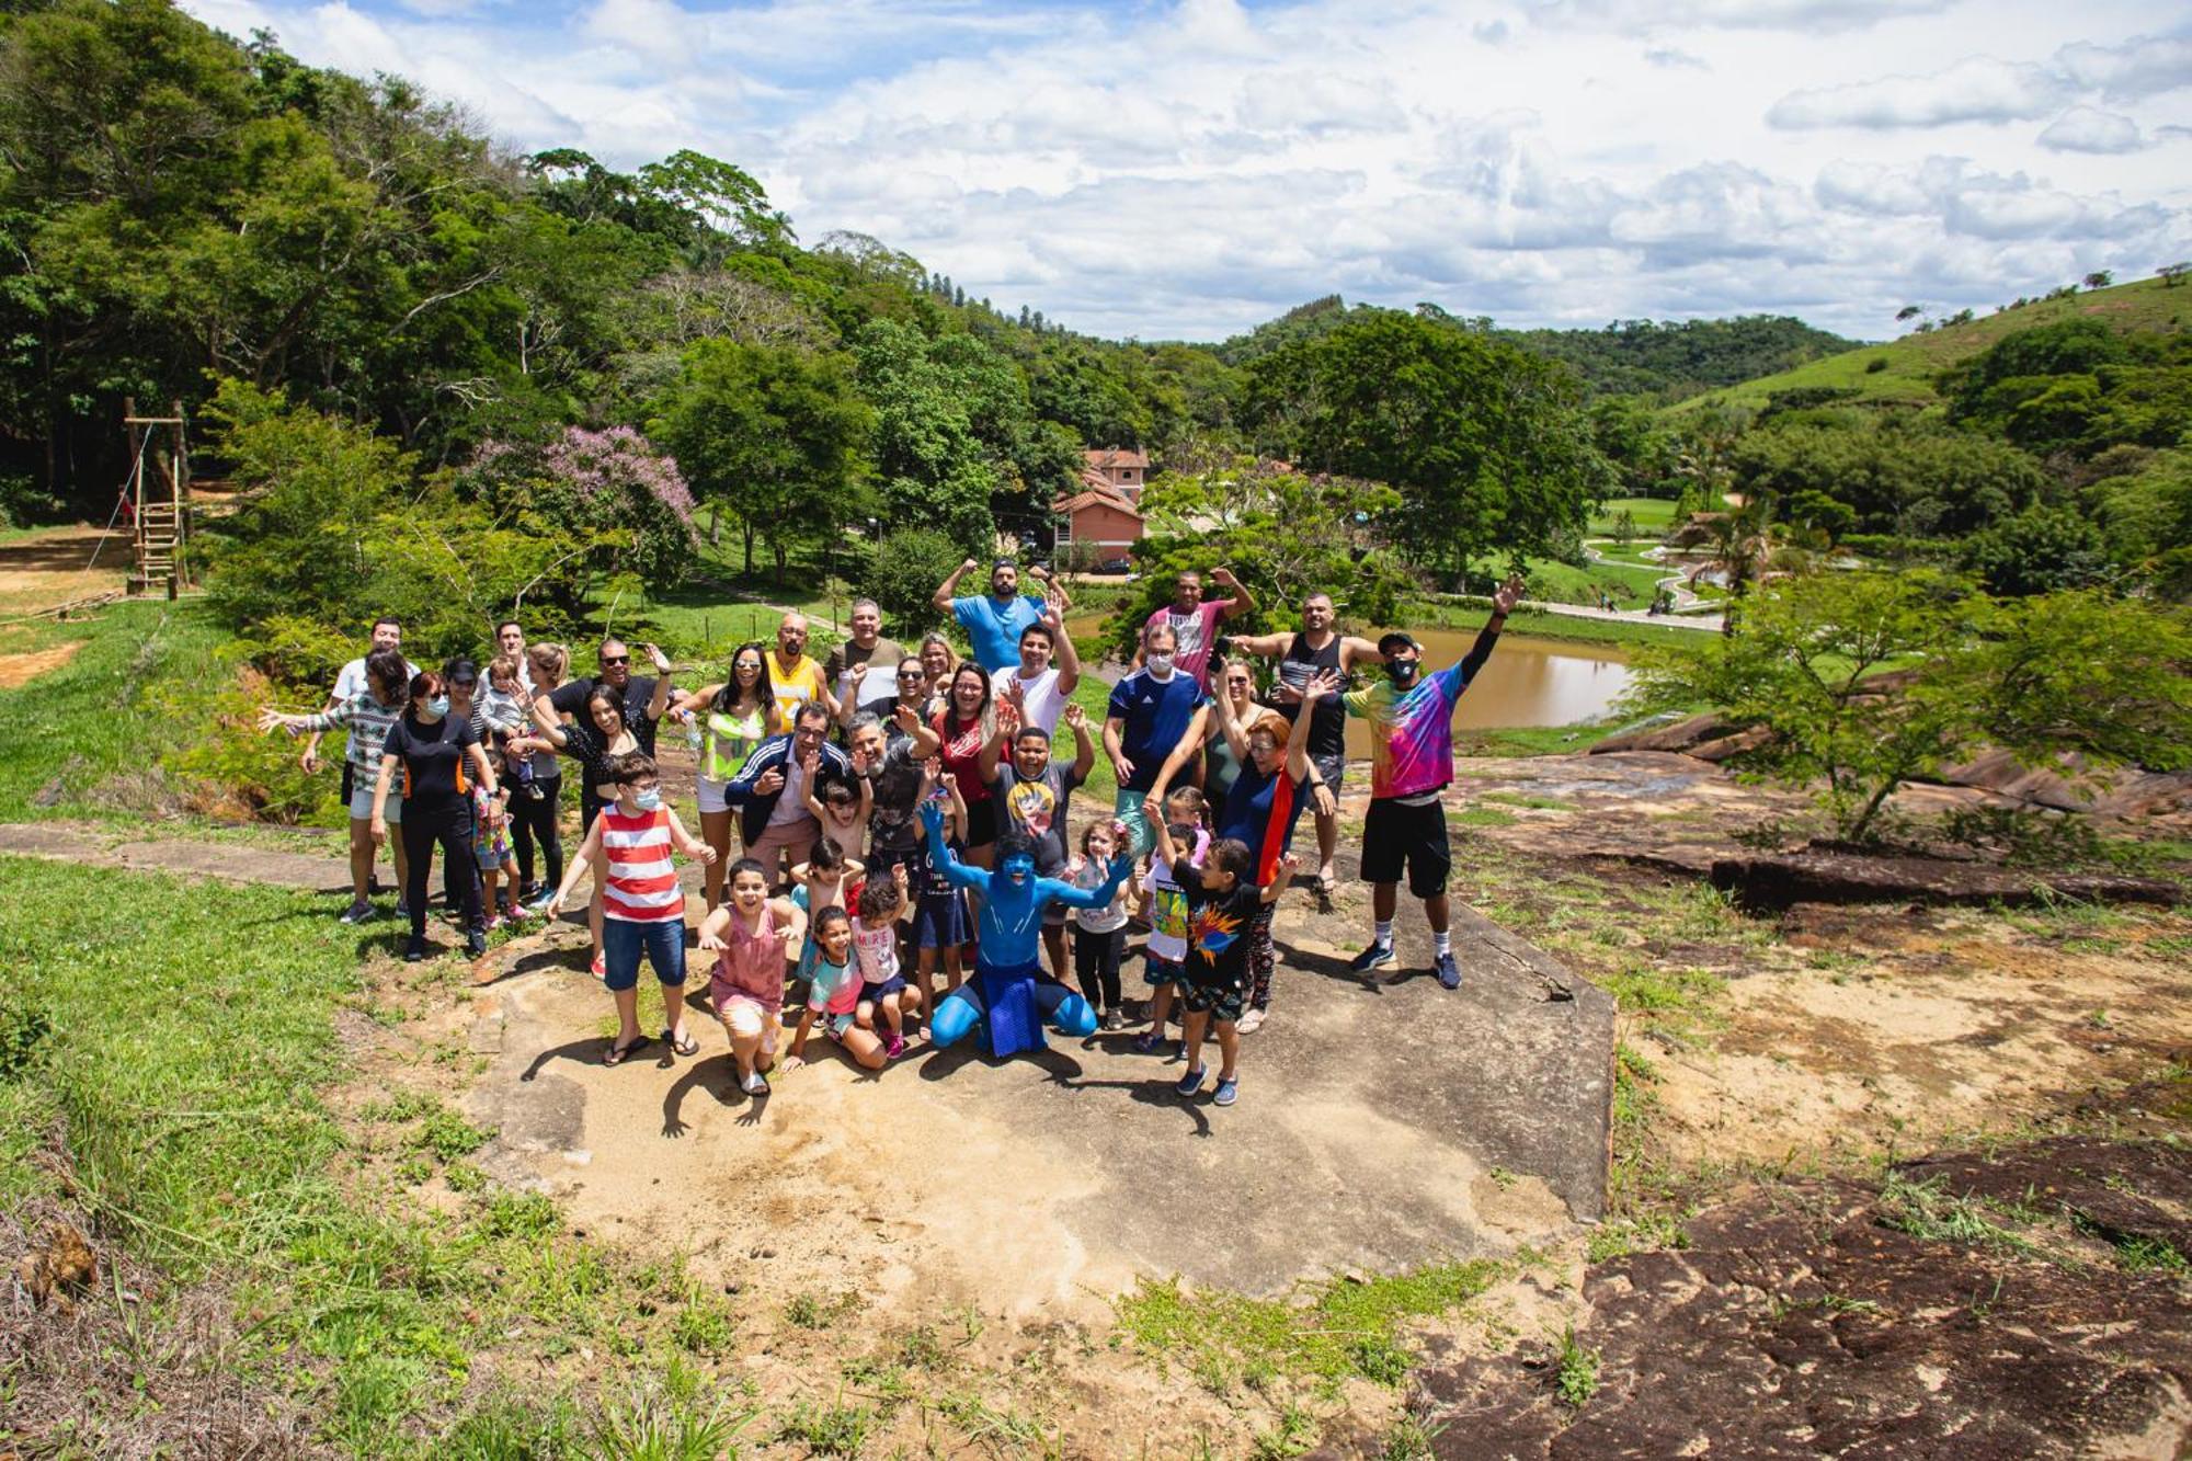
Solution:
<svg viewBox="0 0 2192 1461"><path fill-rule="evenodd" d="M2030 763L2183 766L2188 665L2183 612L2098 592L2003 605L1936 573L1828 573L1762 590L1732 636L1642 649L1624 709L1714 704L1765 726L1749 761L1824 781L1837 836L1861 842L1896 785L1982 744Z"/></svg>

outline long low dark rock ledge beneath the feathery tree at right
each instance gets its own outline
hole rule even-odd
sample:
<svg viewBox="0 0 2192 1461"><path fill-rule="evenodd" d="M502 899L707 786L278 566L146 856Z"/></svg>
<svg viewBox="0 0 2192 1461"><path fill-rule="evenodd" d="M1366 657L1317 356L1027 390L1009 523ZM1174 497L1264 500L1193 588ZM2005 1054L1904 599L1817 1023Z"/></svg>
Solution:
<svg viewBox="0 0 2192 1461"><path fill-rule="evenodd" d="M2157 904L2174 908L2185 891L2161 877L2117 873L2050 873L2001 869L1949 858L1890 858L1806 849L1719 858L1712 886L1734 893L1754 910L1791 904L2008 904L2025 906L2056 897L2104 904Z"/></svg>

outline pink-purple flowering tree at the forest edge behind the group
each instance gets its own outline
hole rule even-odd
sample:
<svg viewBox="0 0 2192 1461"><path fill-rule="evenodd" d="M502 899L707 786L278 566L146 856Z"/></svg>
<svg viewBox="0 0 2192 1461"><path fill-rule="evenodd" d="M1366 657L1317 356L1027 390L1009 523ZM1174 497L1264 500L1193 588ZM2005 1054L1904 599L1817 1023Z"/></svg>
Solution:
<svg viewBox="0 0 2192 1461"><path fill-rule="evenodd" d="M616 579L666 588L693 562L693 489L677 463L629 426L566 426L539 448L489 441L467 476L530 531L570 544L581 592Z"/></svg>

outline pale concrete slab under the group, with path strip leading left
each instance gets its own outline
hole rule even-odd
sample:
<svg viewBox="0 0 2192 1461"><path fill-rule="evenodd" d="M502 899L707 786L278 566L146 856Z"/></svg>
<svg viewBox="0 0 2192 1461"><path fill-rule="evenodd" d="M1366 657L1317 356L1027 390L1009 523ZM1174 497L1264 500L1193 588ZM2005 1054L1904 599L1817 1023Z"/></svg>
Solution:
<svg viewBox="0 0 2192 1461"><path fill-rule="evenodd" d="M0 851L344 891L340 856L57 825L0 827ZM484 1160L555 1191L581 1228L673 1242L701 1268L767 1255L776 1283L853 1270L883 1294L943 1290L1021 1312L1138 1275L1276 1294L1309 1275L1502 1253L1598 1218L1613 1000L1469 910L1455 910L1458 992L1429 976L1412 906L1398 961L1355 976L1346 961L1370 915L1352 871L1342 853L1333 913L1306 893L1280 904L1274 1013L1245 1038L1228 1110L1177 1097L1184 1066L1131 1053L1133 1031L1006 1062L925 1051L879 1075L818 1035L815 1064L752 1101L695 1005L701 1057L655 1042L605 1068L609 998L570 919L480 970L493 983L469 1044L493 1064L469 1106L500 1130ZM436 939L447 945L447 930ZM1140 967L1135 956L1129 998ZM642 1009L655 1029L651 992Z"/></svg>

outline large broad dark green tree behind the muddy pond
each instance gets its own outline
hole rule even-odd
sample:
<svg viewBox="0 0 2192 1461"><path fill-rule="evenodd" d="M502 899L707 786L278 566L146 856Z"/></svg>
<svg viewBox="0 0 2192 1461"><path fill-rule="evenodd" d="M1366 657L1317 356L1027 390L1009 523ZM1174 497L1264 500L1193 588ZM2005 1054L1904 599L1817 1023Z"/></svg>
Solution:
<svg viewBox="0 0 2192 1461"><path fill-rule="evenodd" d="M1396 487L1401 540L1453 581L1495 551L1574 555L1616 483L1563 366L1405 314L1357 312L1256 360L1245 412L1291 461Z"/></svg>

